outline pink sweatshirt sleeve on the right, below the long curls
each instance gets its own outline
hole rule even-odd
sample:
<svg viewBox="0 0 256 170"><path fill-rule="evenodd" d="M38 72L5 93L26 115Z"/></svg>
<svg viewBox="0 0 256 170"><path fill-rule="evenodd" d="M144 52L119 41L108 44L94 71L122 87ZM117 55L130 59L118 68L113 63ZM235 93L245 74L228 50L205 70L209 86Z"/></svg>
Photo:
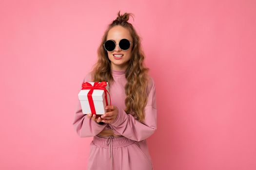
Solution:
<svg viewBox="0 0 256 170"><path fill-rule="evenodd" d="M132 115L126 114L123 109L118 108L117 119L109 123L122 136L129 139L141 141L151 136L157 129L157 103L156 103L156 85L151 78L149 83L148 101L144 108L145 119L141 123Z"/></svg>

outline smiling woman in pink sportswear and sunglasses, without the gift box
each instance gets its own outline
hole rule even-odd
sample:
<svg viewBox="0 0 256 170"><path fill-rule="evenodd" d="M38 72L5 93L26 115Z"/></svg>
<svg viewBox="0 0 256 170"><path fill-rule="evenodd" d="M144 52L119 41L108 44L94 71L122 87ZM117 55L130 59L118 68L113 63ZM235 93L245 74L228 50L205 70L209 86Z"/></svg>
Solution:
<svg viewBox="0 0 256 170"><path fill-rule="evenodd" d="M83 80L109 82L112 102L97 119L84 115L78 103L74 128L80 137L94 137L88 170L153 169L146 138L157 129L156 87L130 15L118 12L102 37L94 69Z"/></svg>

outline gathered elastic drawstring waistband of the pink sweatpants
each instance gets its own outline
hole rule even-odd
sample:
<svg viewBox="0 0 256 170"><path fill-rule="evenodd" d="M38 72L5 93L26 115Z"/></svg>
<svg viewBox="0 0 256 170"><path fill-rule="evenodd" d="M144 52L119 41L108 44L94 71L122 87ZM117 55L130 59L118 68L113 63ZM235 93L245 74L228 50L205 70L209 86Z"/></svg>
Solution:
<svg viewBox="0 0 256 170"><path fill-rule="evenodd" d="M99 146L99 147L102 147L102 148L109 148L109 144L108 144L108 141L109 141L109 137L107 136L94 136L93 137L93 143L96 145L96 146ZM135 143L136 141L135 140L131 140L125 136L112 136L111 138L112 142L113 142L113 148L120 148L120 147L124 147L124 146L128 146L128 145L131 145L133 143Z"/></svg>

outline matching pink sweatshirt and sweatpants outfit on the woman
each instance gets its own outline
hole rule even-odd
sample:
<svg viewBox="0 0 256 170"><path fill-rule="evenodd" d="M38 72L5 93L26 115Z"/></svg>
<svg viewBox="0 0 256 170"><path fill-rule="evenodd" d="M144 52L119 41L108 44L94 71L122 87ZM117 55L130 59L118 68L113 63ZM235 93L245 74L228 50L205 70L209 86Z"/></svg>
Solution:
<svg viewBox="0 0 256 170"><path fill-rule="evenodd" d="M139 122L126 114L124 86L127 83L125 70L111 70L114 82L109 87L112 105L118 107L118 117L112 123L98 124L82 113L80 102L75 113L73 126L80 137L93 136L87 170L152 170L153 164L146 138L157 129L156 86L150 77L145 106L145 120ZM93 82L87 74L83 82ZM82 84L82 83L81 83ZM115 135L99 136L104 129L112 129Z"/></svg>

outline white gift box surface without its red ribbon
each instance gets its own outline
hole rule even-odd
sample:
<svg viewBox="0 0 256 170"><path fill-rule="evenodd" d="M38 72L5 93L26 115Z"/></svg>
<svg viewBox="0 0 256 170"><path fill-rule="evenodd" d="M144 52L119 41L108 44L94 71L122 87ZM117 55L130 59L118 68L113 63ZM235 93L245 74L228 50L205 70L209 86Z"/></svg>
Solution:
<svg viewBox="0 0 256 170"><path fill-rule="evenodd" d="M87 83L94 85L94 82L87 82ZM108 88L109 88L108 82L107 82L107 86L105 88L106 88L106 90L108 90ZM90 104L88 101L88 97L87 97L87 94L89 91L90 91L89 89L80 90L80 92L78 94L83 114L92 113ZM108 90L108 92L109 92L109 90ZM109 99L109 95L107 92L106 92L106 95L107 95L108 105L110 105L110 99ZM93 103L94 103L96 114L104 115L104 113L106 113L105 91L99 90L99 89L94 89L93 93L92 93L92 98L93 98Z"/></svg>

